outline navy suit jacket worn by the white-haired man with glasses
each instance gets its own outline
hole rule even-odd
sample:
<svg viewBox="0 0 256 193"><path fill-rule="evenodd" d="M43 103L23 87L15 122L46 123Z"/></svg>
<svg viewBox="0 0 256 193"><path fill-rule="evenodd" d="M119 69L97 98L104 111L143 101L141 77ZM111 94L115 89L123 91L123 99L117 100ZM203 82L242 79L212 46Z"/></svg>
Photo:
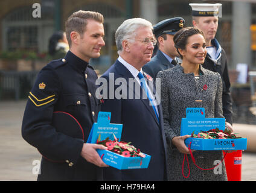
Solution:
<svg viewBox="0 0 256 193"><path fill-rule="evenodd" d="M104 180L166 180L166 141L162 118L161 104L158 106L159 122L149 100L142 99L142 89L139 86L140 98L135 99L135 89L130 89L129 78L133 78L130 71L118 60L104 74L107 83L110 73L114 73L114 80L124 78L127 81L127 99L104 99L101 111L111 112L111 122L123 124L121 141L132 142L142 153L151 156L147 169L104 168ZM138 84L133 83L133 86ZM138 84L139 85L139 84ZM118 86L115 86L117 90ZM133 92L134 91L134 92ZM109 93L109 87L108 87ZM109 93L111 94L111 93ZM138 94L138 93L136 93ZM129 99L133 96L133 99ZM104 96L103 96L104 97Z"/></svg>

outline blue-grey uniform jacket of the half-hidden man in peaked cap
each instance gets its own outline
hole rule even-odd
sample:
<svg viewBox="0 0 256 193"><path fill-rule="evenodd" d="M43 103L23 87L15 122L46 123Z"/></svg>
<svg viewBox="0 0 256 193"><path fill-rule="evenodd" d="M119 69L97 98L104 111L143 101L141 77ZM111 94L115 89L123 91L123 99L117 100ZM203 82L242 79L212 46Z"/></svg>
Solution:
<svg viewBox="0 0 256 193"><path fill-rule="evenodd" d="M148 62L145 66L143 66L142 70L149 74L152 78L156 78L159 71L164 71L169 68L173 68L174 65L171 64L167 58L162 54L160 50L156 53L156 55Z"/></svg>

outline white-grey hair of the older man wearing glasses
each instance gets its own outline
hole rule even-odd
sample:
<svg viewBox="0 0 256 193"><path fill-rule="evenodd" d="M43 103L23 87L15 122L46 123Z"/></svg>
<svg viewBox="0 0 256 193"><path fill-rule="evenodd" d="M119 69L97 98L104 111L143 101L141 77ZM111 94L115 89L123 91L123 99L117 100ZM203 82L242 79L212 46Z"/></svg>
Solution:
<svg viewBox="0 0 256 193"><path fill-rule="evenodd" d="M123 40L134 38L136 36L136 30L140 27L149 27L153 30L151 22L142 18L127 19L117 28L115 32L115 43L117 44L118 54L123 50Z"/></svg>

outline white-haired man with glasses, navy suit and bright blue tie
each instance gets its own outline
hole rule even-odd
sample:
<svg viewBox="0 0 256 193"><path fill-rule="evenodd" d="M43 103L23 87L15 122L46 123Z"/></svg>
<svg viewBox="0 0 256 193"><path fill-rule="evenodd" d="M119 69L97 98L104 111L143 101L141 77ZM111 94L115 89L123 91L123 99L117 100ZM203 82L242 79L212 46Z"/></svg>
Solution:
<svg viewBox="0 0 256 193"><path fill-rule="evenodd" d="M123 124L121 141L132 142L151 160L147 169L104 169L104 180L166 180L162 108L153 97L155 86L149 86L152 78L141 69L150 61L156 44L152 24L141 18L127 19L115 38L120 56L101 77L107 80L109 95L103 94L101 110L112 113L112 122Z"/></svg>

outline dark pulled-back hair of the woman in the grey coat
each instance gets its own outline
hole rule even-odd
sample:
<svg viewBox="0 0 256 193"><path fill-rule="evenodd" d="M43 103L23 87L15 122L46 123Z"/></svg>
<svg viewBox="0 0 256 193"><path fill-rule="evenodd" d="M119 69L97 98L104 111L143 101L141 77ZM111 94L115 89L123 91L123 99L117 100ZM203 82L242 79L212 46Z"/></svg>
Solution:
<svg viewBox="0 0 256 193"><path fill-rule="evenodd" d="M203 34L203 31L195 27L186 27L179 30L176 34L174 34L174 37L173 37L174 46L177 49L177 52L179 53L179 55L181 56L181 59L182 59L182 55L178 49L185 49L188 43L188 37L193 36L194 34L201 34L205 39L205 35Z"/></svg>

